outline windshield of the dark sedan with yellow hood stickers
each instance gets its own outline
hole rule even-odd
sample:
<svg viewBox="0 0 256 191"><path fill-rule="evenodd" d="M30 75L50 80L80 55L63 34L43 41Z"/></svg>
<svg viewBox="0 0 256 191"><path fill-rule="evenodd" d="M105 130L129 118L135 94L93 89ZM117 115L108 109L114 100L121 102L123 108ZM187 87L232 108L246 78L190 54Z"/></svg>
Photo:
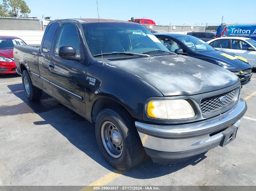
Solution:
<svg viewBox="0 0 256 191"><path fill-rule="evenodd" d="M193 36L186 35L184 37L178 37L177 39L188 46L188 48L190 48L193 52L215 51L215 49L206 42Z"/></svg>

